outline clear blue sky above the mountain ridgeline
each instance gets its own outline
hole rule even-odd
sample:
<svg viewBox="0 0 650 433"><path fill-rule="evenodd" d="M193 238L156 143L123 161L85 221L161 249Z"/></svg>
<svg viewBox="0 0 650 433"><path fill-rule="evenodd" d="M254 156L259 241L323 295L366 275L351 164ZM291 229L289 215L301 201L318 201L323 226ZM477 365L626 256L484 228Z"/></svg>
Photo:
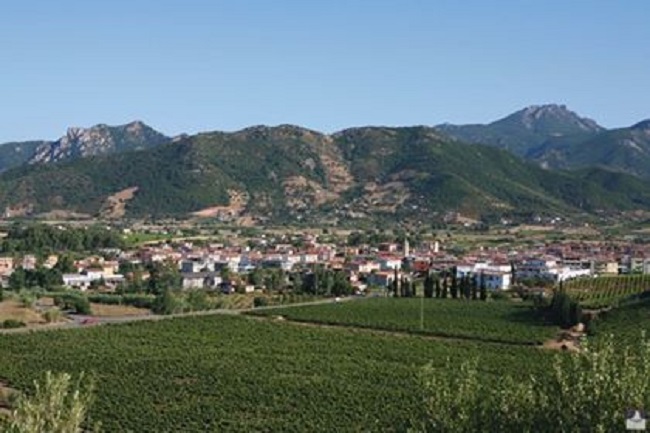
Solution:
<svg viewBox="0 0 650 433"><path fill-rule="evenodd" d="M650 117L650 1L6 0L0 142L141 119L173 135Z"/></svg>

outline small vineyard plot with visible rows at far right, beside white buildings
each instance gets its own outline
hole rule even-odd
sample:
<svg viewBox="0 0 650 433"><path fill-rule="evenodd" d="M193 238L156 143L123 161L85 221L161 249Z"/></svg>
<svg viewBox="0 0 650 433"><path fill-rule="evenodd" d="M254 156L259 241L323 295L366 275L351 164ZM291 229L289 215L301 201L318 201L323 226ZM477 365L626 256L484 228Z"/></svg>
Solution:
<svg viewBox="0 0 650 433"><path fill-rule="evenodd" d="M650 290L650 275L620 275L567 281L564 289L584 308L615 307Z"/></svg>

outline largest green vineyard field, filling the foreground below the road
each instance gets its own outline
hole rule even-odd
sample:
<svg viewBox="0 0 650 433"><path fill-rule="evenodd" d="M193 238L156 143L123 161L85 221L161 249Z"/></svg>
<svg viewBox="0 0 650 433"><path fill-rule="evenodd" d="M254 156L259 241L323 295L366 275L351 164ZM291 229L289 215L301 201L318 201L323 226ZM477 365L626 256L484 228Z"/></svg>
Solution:
<svg viewBox="0 0 650 433"><path fill-rule="evenodd" d="M404 431L416 373L479 358L485 380L548 372L538 348L205 316L0 335L0 379L95 377L107 432ZM559 356L559 355L558 355Z"/></svg>

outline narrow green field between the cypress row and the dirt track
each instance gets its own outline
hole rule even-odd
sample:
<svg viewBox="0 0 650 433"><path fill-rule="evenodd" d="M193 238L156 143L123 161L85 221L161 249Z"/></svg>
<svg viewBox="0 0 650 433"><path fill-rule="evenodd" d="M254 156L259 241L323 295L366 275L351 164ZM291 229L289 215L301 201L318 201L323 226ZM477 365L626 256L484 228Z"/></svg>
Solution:
<svg viewBox="0 0 650 433"><path fill-rule="evenodd" d="M558 331L557 327L544 323L530 304L509 301L374 298L269 309L254 314L279 315L299 322L514 344L539 344L553 338Z"/></svg>

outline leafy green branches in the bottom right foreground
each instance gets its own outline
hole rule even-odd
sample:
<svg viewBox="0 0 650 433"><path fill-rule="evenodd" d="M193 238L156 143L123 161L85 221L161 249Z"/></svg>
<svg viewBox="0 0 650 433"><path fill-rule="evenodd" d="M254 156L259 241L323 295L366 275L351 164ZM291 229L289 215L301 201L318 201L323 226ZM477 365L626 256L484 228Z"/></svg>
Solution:
<svg viewBox="0 0 650 433"><path fill-rule="evenodd" d="M628 409L650 408L650 341L621 348L609 336L556 356L548 378L483 380L476 359L426 365L414 431L610 432Z"/></svg>

